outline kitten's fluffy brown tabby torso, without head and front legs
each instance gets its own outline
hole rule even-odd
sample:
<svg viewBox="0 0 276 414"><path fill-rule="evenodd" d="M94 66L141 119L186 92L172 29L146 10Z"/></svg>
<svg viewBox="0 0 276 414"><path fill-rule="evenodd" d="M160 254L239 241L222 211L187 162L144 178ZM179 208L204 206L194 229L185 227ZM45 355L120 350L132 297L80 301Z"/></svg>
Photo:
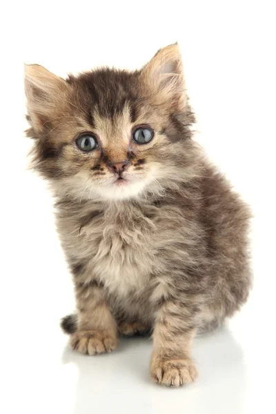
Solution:
<svg viewBox="0 0 276 414"><path fill-rule="evenodd" d="M82 284L102 284L118 321L152 327L155 302L182 302L181 295L187 294L199 306L199 329L232 315L250 286L246 239L240 237L249 213L224 177L210 166L204 172L207 178L194 179L183 192L168 190L159 199L60 201L62 246L73 273L81 267L77 293ZM177 283L172 266L179 267Z"/></svg>

